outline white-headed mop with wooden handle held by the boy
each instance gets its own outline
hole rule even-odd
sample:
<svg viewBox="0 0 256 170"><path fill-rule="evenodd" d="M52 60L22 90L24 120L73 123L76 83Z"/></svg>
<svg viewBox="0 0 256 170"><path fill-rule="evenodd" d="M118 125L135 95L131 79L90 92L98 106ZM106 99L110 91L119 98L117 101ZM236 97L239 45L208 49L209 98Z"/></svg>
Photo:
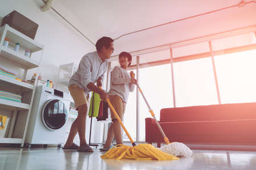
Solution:
<svg viewBox="0 0 256 170"><path fill-rule="evenodd" d="M135 74L133 73L133 71L130 72L131 77L135 77ZM139 87L139 84L136 82L136 86L139 89L139 92L141 92L141 95L145 101L145 103L147 104L148 107L148 111L151 113L151 116L154 118L156 125L158 126L158 129L160 130L160 133L162 134L163 138L164 138L164 142L166 142L166 145L161 147L160 150L163 152L166 152L167 154L171 154L171 155L175 155L175 156L179 156L179 157L191 157L192 155L192 150L187 147L184 143L180 143L180 142L169 142L169 139L166 137L166 134L164 134L163 129L161 128L161 126L159 125L158 120L156 120L155 118L155 114L152 111L152 109L150 108L150 105L148 104L146 97L144 96L141 88Z"/></svg>

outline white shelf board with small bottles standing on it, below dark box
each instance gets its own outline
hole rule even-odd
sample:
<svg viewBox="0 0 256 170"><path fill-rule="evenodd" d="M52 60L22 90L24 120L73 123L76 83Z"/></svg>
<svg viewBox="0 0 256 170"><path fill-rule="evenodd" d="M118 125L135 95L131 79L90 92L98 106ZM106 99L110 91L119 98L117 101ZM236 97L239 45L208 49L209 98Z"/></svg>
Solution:
<svg viewBox="0 0 256 170"><path fill-rule="evenodd" d="M14 50L6 48L5 46L2 46L0 50L1 57L5 57L7 59L11 59L16 63L19 63L20 67L22 67L23 69L33 69L39 66L39 63L36 63L33 59L22 56L21 54L15 52Z"/></svg>

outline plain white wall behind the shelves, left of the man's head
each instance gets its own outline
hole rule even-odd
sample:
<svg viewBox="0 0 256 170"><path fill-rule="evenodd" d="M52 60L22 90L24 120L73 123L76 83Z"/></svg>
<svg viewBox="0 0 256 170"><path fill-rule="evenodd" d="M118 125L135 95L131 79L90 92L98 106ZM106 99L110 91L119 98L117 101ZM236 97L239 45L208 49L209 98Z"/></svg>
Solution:
<svg viewBox="0 0 256 170"><path fill-rule="evenodd" d="M44 80L56 82L59 65L71 62L78 65L85 53L95 50L90 42L53 10L42 12L40 6L43 6L44 2L41 0L0 0L0 4L0 19L16 10L39 24L35 40L45 47L43 59L38 68L28 71L27 79L30 79L33 73L38 72L42 73ZM59 88L63 89L60 85Z"/></svg>

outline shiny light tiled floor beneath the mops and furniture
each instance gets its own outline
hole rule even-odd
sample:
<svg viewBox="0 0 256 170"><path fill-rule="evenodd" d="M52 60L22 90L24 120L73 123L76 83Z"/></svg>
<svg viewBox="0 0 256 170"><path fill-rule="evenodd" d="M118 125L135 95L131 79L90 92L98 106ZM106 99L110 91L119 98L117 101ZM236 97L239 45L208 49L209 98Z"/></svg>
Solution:
<svg viewBox="0 0 256 170"><path fill-rule="evenodd" d="M93 153L53 148L0 148L0 169L256 169L256 152L194 150L176 161L101 159Z"/></svg>

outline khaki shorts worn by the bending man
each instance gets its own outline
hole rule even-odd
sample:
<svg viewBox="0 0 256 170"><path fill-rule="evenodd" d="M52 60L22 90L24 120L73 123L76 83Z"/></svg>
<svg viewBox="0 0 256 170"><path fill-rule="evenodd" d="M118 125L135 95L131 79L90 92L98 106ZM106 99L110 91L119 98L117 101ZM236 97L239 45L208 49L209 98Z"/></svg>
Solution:
<svg viewBox="0 0 256 170"><path fill-rule="evenodd" d="M68 90L75 102L76 109L84 104L87 104L87 106L89 105L89 95L85 96L84 90L79 86L71 84L68 86Z"/></svg>

